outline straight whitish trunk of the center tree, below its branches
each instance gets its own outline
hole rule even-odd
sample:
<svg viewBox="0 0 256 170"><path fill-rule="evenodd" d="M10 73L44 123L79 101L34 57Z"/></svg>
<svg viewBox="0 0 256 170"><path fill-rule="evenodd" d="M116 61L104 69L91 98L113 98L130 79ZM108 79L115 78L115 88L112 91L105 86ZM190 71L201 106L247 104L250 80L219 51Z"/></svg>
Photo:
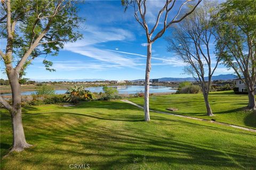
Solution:
<svg viewBox="0 0 256 170"><path fill-rule="evenodd" d="M145 121L150 121L150 116L149 116L149 73L151 70L151 47L152 47L152 44L148 43L147 65L146 65L146 74L145 74L145 93L144 93Z"/></svg>

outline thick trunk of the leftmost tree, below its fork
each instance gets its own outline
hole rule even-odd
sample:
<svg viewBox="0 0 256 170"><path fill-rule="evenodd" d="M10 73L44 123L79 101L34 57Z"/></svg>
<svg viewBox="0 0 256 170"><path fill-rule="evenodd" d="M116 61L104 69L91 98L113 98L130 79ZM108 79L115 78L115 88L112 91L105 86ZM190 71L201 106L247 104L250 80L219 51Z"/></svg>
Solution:
<svg viewBox="0 0 256 170"><path fill-rule="evenodd" d="M12 130L13 130L13 146L11 151L22 151L25 148L30 147L26 142L25 133L22 125L22 117L21 117L21 91L20 84L17 72L15 70L11 70L10 74L8 74L8 78L10 81L10 86L12 89L12 104L13 111L11 111L12 116Z"/></svg>

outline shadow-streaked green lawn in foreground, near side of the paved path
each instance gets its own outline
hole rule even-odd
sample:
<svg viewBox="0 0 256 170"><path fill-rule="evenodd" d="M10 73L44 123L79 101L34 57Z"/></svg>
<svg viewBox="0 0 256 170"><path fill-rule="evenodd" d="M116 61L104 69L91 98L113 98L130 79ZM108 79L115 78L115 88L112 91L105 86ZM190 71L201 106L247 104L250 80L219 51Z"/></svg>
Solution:
<svg viewBox="0 0 256 170"><path fill-rule="evenodd" d="M12 128L9 114L2 110L0 115L2 157L11 147ZM24 108L27 142L35 146L3 158L1 169L69 169L69 164L90 164L90 169L256 167L254 132L164 114L151 113L150 122L143 118L141 109L121 101Z"/></svg>

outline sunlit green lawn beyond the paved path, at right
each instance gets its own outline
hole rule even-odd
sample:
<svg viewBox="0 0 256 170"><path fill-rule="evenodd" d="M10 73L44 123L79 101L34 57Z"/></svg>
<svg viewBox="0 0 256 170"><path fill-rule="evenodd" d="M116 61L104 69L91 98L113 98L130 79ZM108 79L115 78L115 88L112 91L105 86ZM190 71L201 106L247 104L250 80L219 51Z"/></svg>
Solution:
<svg viewBox="0 0 256 170"><path fill-rule="evenodd" d="M143 106L144 99L129 99ZM256 113L244 111L247 106L247 95L235 95L233 91L217 91L209 94L209 101L215 116L206 116L206 108L202 94L173 94L150 97L150 109L170 112L180 115L204 118L214 118L218 122L244 126L256 129ZM179 111L171 112L166 108L178 108Z"/></svg>

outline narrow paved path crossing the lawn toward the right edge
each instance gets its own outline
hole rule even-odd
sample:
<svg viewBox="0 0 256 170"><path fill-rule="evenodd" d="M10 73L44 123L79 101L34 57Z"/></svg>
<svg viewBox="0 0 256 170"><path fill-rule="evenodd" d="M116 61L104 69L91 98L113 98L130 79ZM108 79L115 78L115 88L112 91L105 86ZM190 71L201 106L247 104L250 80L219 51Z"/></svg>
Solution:
<svg viewBox="0 0 256 170"><path fill-rule="evenodd" d="M143 109L142 106L137 105L137 104L133 103L132 101L129 101L129 100L121 100L121 101L123 101L123 102L125 102L125 103L129 103L129 104L131 104L131 105L134 105L134 106L137 106L137 107ZM209 120L206 120L206 119L203 119L203 118L196 118L196 117L183 116L183 115L172 114L172 113L167 113L167 112L154 111L154 110L151 110L151 109L149 109L149 111L150 111L150 112L161 113L161 114L166 114L166 115L173 115L173 116L178 116L178 117L190 118L190 119L194 119L194 120L198 120L198 121L205 121L205 122L210 122L210 123L216 123L216 124L221 124L221 125L225 125L225 126L230 126L230 127L237 128L237 129L243 129L243 130L246 130L246 131L256 132L256 130L254 130L254 129L244 128L244 127L242 127L242 126L236 126L236 125L227 124L227 123L209 121Z"/></svg>

